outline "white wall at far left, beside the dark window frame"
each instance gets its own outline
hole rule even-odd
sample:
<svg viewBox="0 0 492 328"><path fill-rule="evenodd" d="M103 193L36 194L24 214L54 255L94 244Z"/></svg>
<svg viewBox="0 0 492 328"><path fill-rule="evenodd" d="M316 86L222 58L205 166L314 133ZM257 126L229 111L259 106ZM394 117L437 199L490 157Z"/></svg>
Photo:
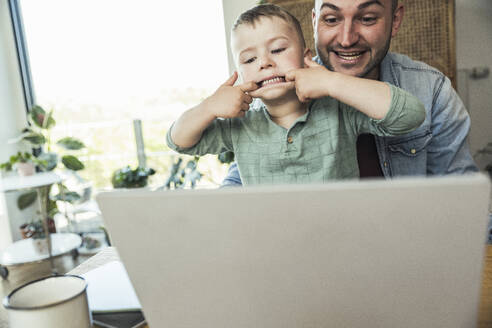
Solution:
<svg viewBox="0 0 492 328"><path fill-rule="evenodd" d="M12 33L12 22L7 0L0 0L0 162L5 162L17 152L15 144L7 140L19 135L26 125L26 109L22 82L19 74L17 53ZM17 210L18 193L0 193L0 251L12 242L10 221L19 222L25 214Z"/></svg>

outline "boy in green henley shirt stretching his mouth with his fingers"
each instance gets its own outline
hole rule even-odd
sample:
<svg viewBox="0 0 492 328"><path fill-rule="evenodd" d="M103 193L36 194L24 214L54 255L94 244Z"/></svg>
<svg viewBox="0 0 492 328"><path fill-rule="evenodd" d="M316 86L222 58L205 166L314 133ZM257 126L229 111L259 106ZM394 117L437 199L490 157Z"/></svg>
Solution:
<svg viewBox="0 0 492 328"><path fill-rule="evenodd" d="M186 154L233 151L245 185L356 178L358 134L408 133L425 119L423 105L403 90L312 62L299 22L275 5L241 14L231 47L245 82L234 86L235 72L183 113L167 143ZM330 94L306 83L306 70ZM263 104L250 109L253 97Z"/></svg>

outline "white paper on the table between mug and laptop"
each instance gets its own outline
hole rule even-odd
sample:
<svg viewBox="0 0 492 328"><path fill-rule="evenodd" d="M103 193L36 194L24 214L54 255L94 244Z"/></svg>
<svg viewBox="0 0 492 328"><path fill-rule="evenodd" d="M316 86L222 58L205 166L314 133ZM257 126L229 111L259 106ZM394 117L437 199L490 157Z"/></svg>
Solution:
<svg viewBox="0 0 492 328"><path fill-rule="evenodd" d="M82 277L89 284L87 295L92 312L136 311L142 308L120 261L109 262Z"/></svg>

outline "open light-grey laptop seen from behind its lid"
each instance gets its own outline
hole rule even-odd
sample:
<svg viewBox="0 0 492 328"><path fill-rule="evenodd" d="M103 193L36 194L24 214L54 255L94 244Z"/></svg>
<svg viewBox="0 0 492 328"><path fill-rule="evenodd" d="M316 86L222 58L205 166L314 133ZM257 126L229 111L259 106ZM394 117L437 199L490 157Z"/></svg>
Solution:
<svg viewBox="0 0 492 328"><path fill-rule="evenodd" d="M150 327L474 327L483 175L99 194Z"/></svg>

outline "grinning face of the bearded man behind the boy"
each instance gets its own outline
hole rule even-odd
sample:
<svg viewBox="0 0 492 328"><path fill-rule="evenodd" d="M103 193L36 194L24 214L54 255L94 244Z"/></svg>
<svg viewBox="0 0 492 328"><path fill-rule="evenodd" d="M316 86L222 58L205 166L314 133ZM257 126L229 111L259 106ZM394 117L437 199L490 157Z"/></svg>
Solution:
<svg viewBox="0 0 492 328"><path fill-rule="evenodd" d="M391 0L317 0L313 9L316 51L328 69L352 76L379 78L403 17Z"/></svg>

